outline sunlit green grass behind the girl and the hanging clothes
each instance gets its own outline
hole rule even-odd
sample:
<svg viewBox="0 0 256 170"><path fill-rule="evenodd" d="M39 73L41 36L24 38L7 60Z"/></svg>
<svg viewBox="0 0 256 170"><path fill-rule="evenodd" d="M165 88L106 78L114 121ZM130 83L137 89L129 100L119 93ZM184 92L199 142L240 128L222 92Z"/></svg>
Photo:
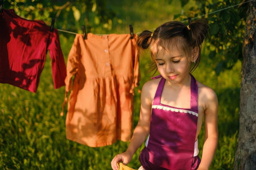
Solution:
<svg viewBox="0 0 256 170"><path fill-rule="evenodd" d="M174 4L154 0L131 0L128 4L121 0L111 2L122 22L118 24L117 19L113 20L109 33L129 33L129 24L134 33L154 29L181 11L179 4L175 4L177 1ZM103 33L100 31L95 29L94 33ZM74 36L63 33L60 38L67 60ZM65 138L65 114L60 116L65 87L54 89L50 62L47 56L37 93L0 84L0 170L111 170L110 161L126 150L128 142L117 141L111 146L90 148ZM151 76L149 62L148 55L141 56L140 88ZM216 76L207 51L204 51L200 66L193 73L198 81L213 88L219 99L219 144L211 170L233 169L238 139L240 68L238 62L233 69ZM134 126L139 118L139 97L135 89ZM203 135L204 129L199 136L201 152ZM140 166L141 148L129 163L130 167Z"/></svg>

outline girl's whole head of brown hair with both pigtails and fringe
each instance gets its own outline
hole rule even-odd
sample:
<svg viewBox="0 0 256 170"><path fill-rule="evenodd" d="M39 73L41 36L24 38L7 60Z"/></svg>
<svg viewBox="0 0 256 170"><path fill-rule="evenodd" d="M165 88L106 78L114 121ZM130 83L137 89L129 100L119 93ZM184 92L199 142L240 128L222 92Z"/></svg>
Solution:
<svg viewBox="0 0 256 170"><path fill-rule="evenodd" d="M150 46L151 57L153 59L152 69L155 72L157 71L155 58L159 49L170 51L173 44L176 44L177 48L184 51L186 56L191 56L193 49L198 48L198 58L190 70L192 73L200 62L201 44L208 35L208 29L209 25L206 18L195 20L189 25L179 21L166 22L159 26L153 33L148 30L141 32L137 40L137 48L140 53L142 49L147 49ZM160 46L162 48L159 48ZM155 50L156 47L157 50Z"/></svg>

